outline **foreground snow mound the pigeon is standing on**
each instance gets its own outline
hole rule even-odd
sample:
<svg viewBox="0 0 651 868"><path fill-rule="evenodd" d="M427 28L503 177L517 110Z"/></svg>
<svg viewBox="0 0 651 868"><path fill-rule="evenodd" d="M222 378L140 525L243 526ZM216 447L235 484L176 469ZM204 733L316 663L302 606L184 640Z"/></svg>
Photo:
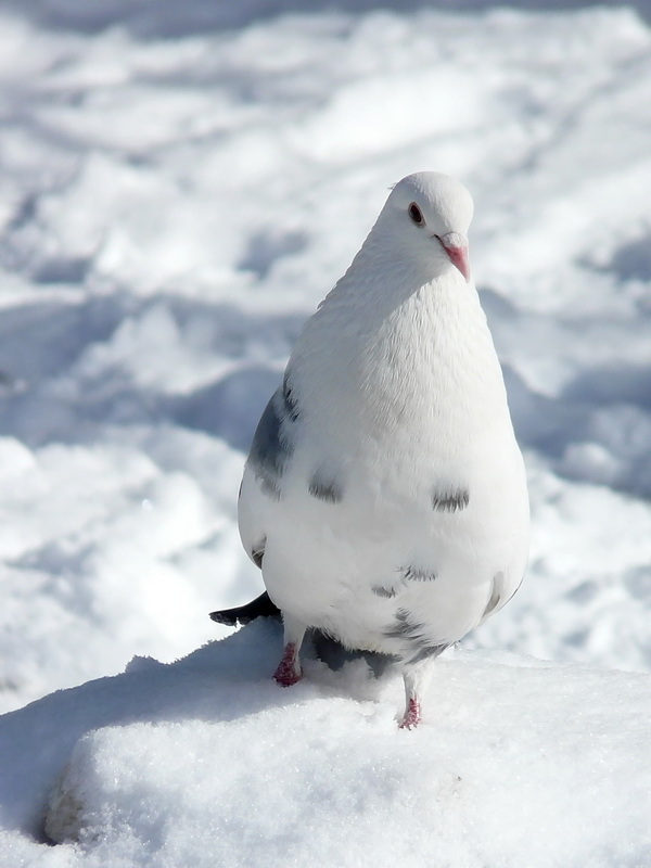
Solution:
<svg viewBox="0 0 651 868"><path fill-rule="evenodd" d="M280 649L255 622L4 715L5 828L47 815L39 865L647 864L650 676L452 650L401 731L397 673L282 690Z"/></svg>

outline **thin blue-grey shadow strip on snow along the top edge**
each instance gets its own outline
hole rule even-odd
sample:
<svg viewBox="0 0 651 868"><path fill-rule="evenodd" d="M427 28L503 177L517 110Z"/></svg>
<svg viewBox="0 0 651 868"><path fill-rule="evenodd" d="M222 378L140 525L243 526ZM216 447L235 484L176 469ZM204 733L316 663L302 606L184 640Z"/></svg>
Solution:
<svg viewBox="0 0 651 868"><path fill-rule="evenodd" d="M644 18L651 17L651 0L629 0L627 5L636 9ZM237 3L215 0L104 0L89 3L88 0L3 0L0 8L30 18L43 29L66 29L79 33L98 33L108 27L122 26L135 36L152 38L178 38L202 34L213 29L235 29L254 22L285 13L365 13L376 10L414 12L422 9L438 9L448 12L481 12L494 8L533 12L576 10L588 7L621 7L618 0L239 0Z"/></svg>

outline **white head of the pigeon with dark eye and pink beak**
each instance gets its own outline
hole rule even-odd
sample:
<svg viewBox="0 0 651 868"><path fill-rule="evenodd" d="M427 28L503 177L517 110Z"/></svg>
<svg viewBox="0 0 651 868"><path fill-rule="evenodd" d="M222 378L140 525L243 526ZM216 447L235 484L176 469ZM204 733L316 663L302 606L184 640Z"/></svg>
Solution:
<svg viewBox="0 0 651 868"><path fill-rule="evenodd" d="M435 273L455 266L470 281L468 228L473 202L463 184L438 171L408 175L394 187L378 221Z"/></svg>

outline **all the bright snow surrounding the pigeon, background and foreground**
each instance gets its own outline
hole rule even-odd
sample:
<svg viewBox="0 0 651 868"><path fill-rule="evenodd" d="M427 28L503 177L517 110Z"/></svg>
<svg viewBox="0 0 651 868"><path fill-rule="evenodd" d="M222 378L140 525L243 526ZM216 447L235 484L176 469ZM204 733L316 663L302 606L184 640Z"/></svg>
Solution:
<svg viewBox="0 0 651 868"><path fill-rule="evenodd" d="M651 7L549 5L0 3L0 865L651 864ZM399 732L395 675L281 691L278 626L207 613L420 169L475 200L534 539Z"/></svg>

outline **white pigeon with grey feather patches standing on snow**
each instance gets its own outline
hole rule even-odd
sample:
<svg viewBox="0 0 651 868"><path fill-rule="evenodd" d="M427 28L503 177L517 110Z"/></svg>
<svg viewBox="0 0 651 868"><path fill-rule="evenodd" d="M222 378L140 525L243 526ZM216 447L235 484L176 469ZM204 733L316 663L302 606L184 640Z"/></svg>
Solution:
<svg viewBox="0 0 651 868"><path fill-rule="evenodd" d="M239 502L244 548L282 612L276 680L315 627L394 655L400 726L442 651L513 596L528 498L501 369L471 282L470 193L397 183L305 323L267 405Z"/></svg>

